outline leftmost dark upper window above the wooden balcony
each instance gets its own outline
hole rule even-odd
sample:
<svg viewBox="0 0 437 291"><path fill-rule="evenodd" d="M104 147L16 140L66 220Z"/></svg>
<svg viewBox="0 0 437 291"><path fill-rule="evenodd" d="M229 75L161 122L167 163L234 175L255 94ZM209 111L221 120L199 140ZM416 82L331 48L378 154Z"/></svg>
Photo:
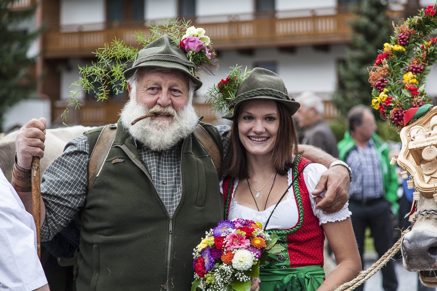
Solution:
<svg viewBox="0 0 437 291"><path fill-rule="evenodd" d="M107 0L108 22L144 19L144 0Z"/></svg>

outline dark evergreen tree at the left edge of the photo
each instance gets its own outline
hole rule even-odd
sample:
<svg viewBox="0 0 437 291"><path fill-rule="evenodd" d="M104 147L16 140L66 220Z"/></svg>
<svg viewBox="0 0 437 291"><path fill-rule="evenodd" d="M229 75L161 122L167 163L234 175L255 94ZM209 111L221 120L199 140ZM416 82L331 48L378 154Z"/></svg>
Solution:
<svg viewBox="0 0 437 291"><path fill-rule="evenodd" d="M0 0L0 132L7 109L35 90L35 77L29 68L35 58L27 52L40 30L24 31L19 24L35 15L36 5L20 10L11 9L15 0Z"/></svg>

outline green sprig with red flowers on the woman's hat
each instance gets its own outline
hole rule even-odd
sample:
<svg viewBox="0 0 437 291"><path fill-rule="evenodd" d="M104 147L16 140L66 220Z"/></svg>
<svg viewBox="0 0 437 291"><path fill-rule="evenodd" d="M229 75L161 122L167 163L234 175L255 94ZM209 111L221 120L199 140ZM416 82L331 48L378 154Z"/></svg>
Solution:
<svg viewBox="0 0 437 291"><path fill-rule="evenodd" d="M214 107L214 111L231 111L229 110L229 104L235 99L238 87L241 82L250 74L250 70L241 70L242 66L230 67L226 79L222 79L217 85L208 88L206 93L206 103L209 103Z"/></svg>

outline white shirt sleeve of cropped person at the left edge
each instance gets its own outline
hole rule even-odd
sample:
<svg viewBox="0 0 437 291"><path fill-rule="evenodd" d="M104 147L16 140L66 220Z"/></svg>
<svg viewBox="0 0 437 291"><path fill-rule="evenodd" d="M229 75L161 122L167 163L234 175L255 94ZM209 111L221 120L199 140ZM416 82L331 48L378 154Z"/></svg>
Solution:
<svg viewBox="0 0 437 291"><path fill-rule="evenodd" d="M32 216L0 170L0 291L30 291L47 284L35 232Z"/></svg>

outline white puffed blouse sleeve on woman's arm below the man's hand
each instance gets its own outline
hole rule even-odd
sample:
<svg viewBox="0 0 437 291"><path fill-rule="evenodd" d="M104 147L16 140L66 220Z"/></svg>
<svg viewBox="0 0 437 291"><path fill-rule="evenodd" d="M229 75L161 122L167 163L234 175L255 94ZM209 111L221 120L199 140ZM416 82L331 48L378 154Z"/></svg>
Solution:
<svg viewBox="0 0 437 291"><path fill-rule="evenodd" d="M314 198L317 196L314 196L311 193L316 188L320 177L326 170L328 170L326 166L317 163L309 164L308 166L306 166L305 170L303 170L303 178L308 189L312 212L314 213L314 215L316 215L317 218L319 218L319 225L326 222L342 221L350 217L350 215L352 214L352 212L349 211L349 208L347 208L349 206L349 203L344 204L343 208L340 211L332 214L323 214L322 209L316 209L316 199ZM324 197L325 192L326 191L323 191L323 193L319 196Z"/></svg>

